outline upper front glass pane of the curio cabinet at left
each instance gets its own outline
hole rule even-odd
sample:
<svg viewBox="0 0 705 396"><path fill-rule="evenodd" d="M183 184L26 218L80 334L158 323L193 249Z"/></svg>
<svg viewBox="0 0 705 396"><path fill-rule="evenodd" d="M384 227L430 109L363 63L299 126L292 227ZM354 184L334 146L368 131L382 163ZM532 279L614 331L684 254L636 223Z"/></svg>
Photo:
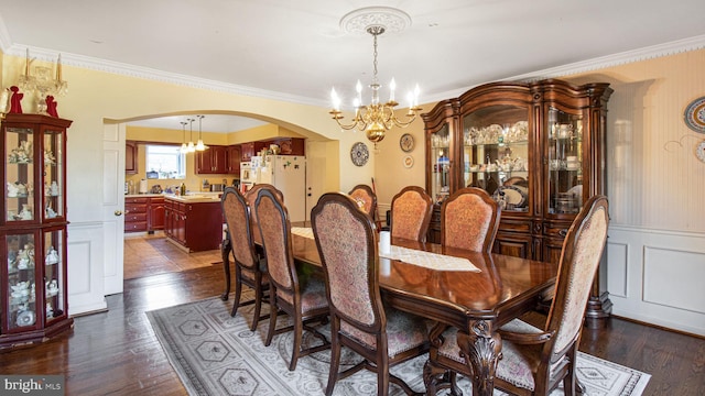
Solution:
<svg viewBox="0 0 705 396"><path fill-rule="evenodd" d="M7 128L4 147L8 153L4 167L6 220L8 223L34 220L34 131Z"/></svg>

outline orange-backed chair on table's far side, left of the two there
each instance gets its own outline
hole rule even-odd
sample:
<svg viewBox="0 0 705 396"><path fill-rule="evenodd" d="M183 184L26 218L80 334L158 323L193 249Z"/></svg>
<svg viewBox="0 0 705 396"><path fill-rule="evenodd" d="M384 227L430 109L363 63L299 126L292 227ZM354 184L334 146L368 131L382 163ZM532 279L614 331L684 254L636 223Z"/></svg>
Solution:
<svg viewBox="0 0 705 396"><path fill-rule="evenodd" d="M421 187L408 186L392 198L390 232L392 238L425 242L433 199Z"/></svg>

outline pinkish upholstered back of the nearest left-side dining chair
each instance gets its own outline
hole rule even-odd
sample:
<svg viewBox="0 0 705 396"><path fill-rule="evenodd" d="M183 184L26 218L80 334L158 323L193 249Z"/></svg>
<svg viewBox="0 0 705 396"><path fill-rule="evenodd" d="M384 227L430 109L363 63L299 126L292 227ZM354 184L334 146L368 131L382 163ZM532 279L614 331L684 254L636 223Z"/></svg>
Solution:
<svg viewBox="0 0 705 396"><path fill-rule="evenodd" d="M372 219L350 197L330 193L321 197L311 222L327 280L330 310L340 318L343 331L373 345L373 333L384 320L384 310L379 294ZM356 323L365 332L349 323Z"/></svg>

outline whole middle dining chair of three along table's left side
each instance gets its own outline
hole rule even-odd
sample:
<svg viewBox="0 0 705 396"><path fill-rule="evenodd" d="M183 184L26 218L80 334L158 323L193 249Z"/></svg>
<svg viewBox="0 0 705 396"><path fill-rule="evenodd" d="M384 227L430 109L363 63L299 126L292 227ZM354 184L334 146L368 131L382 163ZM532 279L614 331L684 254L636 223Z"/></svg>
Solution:
<svg viewBox="0 0 705 396"><path fill-rule="evenodd" d="M328 321L328 300L322 279L300 276L292 251L291 221L279 196L270 188L262 188L254 201L258 224L262 234L262 246L267 255L270 278L270 321L267 341L269 346L274 334L294 331L294 344L289 370L296 370L299 358L330 348L328 340L312 323ZM292 326L276 329L279 310L288 314ZM323 344L302 350L303 330L321 339Z"/></svg>

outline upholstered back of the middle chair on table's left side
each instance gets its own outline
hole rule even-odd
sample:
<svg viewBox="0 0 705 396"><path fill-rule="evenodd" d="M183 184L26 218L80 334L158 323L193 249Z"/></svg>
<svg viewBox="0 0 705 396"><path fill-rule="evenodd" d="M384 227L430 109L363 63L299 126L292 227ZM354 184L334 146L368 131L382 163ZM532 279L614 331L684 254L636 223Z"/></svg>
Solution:
<svg viewBox="0 0 705 396"><path fill-rule="evenodd" d="M267 254L270 280L283 295L297 294L296 271L291 249L291 222L284 204L272 189L261 188L254 201L254 212Z"/></svg>

